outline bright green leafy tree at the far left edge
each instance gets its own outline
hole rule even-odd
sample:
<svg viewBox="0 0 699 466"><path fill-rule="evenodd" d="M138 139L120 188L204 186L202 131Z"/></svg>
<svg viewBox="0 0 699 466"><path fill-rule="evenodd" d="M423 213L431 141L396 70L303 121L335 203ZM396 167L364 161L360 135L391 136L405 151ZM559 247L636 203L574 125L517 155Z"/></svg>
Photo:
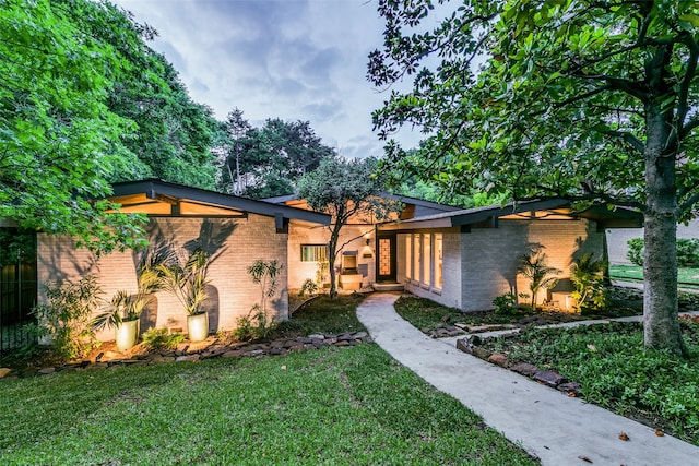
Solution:
<svg viewBox="0 0 699 466"><path fill-rule="evenodd" d="M109 193L111 174L139 166L120 143L132 123L106 105L108 70L121 65L114 47L48 0L0 7L0 217L97 250L139 243L141 217L90 200Z"/></svg>

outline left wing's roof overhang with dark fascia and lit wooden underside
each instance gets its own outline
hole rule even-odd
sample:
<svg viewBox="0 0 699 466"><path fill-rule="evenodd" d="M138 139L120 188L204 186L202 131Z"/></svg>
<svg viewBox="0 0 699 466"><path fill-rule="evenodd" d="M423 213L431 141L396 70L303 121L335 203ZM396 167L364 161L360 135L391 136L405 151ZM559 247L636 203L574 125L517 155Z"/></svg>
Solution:
<svg viewBox="0 0 699 466"><path fill-rule="evenodd" d="M116 183L109 200L121 205L119 212L177 217L245 217L258 214L277 223L294 222L329 225L331 216L318 212L272 204L264 201L190 188L162 180ZM281 228L277 225L277 228Z"/></svg>

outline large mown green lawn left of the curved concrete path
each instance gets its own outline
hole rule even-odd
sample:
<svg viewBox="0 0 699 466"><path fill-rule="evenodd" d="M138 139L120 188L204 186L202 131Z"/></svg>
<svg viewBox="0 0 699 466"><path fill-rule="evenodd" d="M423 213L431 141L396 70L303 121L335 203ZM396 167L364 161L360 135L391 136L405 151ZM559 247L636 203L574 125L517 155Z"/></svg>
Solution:
<svg viewBox="0 0 699 466"><path fill-rule="evenodd" d="M374 344L2 381L0 463L536 464Z"/></svg>

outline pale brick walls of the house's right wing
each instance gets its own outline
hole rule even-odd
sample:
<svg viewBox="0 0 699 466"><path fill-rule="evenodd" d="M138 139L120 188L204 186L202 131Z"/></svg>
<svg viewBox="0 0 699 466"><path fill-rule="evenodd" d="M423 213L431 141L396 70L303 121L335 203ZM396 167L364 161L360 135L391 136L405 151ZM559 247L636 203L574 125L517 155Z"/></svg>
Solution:
<svg viewBox="0 0 699 466"><path fill-rule="evenodd" d="M593 252L596 259L604 254L604 232L596 231L595 223L585 219L500 220L497 228L474 228L471 232L443 230L442 288L437 290L405 276L405 238L411 235L398 235L399 282L405 283L414 295L463 311L493 309L493 299L507 292L529 292L529 282L517 274L517 266L519 256L531 244L544 246L546 264L560 270L560 278L570 276L577 252ZM545 292L537 297L537 302L545 298Z"/></svg>

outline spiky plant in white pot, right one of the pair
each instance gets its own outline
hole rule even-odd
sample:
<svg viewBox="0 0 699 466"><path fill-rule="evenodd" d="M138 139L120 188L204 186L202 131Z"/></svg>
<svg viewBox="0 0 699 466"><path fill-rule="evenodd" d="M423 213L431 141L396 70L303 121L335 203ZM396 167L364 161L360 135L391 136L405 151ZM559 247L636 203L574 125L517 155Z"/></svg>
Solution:
<svg viewBox="0 0 699 466"><path fill-rule="evenodd" d="M185 265L179 262L159 267L163 288L177 297L187 313L190 342L202 342L209 336L209 315L202 309L206 295L209 254L201 249L191 253Z"/></svg>

